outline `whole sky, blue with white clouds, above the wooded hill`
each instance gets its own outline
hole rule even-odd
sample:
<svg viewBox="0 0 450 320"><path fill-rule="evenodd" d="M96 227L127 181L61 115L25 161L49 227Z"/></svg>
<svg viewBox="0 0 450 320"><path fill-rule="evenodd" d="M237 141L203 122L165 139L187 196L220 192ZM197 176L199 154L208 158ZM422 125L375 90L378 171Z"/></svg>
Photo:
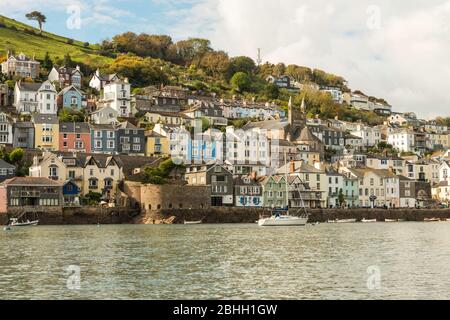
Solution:
<svg viewBox="0 0 450 320"><path fill-rule="evenodd" d="M0 0L0 14L91 43L125 31L204 37L232 56L318 68L394 111L450 116L450 1Z"/></svg>

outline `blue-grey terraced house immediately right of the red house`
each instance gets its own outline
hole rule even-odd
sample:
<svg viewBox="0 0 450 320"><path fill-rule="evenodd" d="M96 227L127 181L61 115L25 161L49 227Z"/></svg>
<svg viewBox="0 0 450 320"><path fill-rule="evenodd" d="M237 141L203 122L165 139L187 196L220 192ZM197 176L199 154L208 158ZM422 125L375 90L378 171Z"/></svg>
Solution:
<svg viewBox="0 0 450 320"><path fill-rule="evenodd" d="M90 127L91 152L117 154L116 128L108 124L91 124Z"/></svg>

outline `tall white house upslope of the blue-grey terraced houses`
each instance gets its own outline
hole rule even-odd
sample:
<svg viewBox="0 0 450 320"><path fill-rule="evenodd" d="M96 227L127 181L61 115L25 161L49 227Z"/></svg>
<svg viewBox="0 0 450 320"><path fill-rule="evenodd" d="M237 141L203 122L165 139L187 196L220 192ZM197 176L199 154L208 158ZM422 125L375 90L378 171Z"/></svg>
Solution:
<svg viewBox="0 0 450 320"><path fill-rule="evenodd" d="M103 88L103 106L111 107L118 112L119 117L131 115L131 86L128 79L116 80Z"/></svg>

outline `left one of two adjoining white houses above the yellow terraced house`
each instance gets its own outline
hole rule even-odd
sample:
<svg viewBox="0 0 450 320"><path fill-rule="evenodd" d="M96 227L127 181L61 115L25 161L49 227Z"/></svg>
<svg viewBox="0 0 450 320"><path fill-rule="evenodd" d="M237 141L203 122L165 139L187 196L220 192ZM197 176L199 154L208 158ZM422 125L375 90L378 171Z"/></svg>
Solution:
<svg viewBox="0 0 450 320"><path fill-rule="evenodd" d="M41 83L17 81L14 87L14 107L19 113L33 113L38 108Z"/></svg>

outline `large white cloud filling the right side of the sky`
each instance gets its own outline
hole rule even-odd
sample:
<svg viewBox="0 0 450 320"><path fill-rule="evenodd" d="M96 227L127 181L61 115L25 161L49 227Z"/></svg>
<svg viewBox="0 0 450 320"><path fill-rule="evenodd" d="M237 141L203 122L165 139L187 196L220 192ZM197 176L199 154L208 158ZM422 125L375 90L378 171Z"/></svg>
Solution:
<svg viewBox="0 0 450 320"><path fill-rule="evenodd" d="M378 10L377 10L378 9ZM344 76L397 111L450 115L450 1L197 0L178 37Z"/></svg>

